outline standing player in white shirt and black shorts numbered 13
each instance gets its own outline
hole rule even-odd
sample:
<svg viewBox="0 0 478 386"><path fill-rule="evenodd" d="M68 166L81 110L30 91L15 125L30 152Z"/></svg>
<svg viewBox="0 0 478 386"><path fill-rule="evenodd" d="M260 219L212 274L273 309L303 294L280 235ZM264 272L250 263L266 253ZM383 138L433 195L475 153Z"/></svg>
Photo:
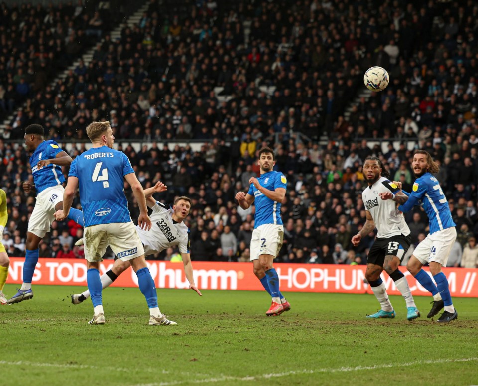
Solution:
<svg viewBox="0 0 478 386"><path fill-rule="evenodd" d="M367 157L362 172L368 184L368 188L362 192L367 219L360 232L352 237L352 244L358 246L362 237L368 235L375 227L377 228L377 238L367 256L365 278L381 306L380 311L367 315L367 318L395 317L385 284L380 278L381 272L385 269L405 299L407 319L416 319L420 317L420 312L413 300L407 278L398 269L403 256L410 247L410 229L405 222L403 213L396 208L396 204L379 197L382 193L398 192L399 188L388 179L390 174L377 157Z"/></svg>

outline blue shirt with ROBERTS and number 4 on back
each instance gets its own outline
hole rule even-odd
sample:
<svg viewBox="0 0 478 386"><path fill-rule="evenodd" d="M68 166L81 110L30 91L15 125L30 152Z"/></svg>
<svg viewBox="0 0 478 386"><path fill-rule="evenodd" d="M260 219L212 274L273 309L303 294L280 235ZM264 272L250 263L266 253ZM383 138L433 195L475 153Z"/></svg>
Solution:
<svg viewBox="0 0 478 386"><path fill-rule="evenodd" d="M73 160L68 176L78 178L85 227L131 221L123 182L130 173L134 170L126 154L107 146Z"/></svg>

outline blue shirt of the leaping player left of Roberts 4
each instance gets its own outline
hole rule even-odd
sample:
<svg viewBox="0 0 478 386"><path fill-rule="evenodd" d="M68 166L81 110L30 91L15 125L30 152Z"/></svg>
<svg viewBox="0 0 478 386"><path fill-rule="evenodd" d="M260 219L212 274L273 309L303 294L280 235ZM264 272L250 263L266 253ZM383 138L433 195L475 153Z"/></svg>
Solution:
<svg viewBox="0 0 478 386"><path fill-rule="evenodd" d="M56 155L63 150L55 141L43 141L38 145L30 157L31 174L35 184L36 193L41 193L47 188L51 188L65 182L65 177L61 171L61 166L49 164L38 169L38 162L56 158Z"/></svg>

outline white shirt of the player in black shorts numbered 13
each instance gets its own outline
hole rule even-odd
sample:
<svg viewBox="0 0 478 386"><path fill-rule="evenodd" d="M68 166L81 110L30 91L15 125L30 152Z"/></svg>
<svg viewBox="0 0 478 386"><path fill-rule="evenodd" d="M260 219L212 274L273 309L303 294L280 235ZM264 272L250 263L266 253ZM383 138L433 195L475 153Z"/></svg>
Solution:
<svg viewBox="0 0 478 386"><path fill-rule="evenodd" d="M380 177L371 187L362 192L365 208L370 212L378 230L377 237L385 239L392 236L410 234L403 213L397 209L395 201L382 200L379 193L398 192L398 187L385 177Z"/></svg>

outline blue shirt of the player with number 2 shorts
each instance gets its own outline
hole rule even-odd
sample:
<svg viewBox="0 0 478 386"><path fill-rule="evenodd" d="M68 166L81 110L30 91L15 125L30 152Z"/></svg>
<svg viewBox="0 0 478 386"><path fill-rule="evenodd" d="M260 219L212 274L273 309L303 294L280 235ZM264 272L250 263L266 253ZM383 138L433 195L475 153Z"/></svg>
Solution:
<svg viewBox="0 0 478 386"><path fill-rule="evenodd" d="M287 189L287 179L281 172L270 171L257 178L259 184L269 191L277 188ZM255 216L254 229L264 224L282 225L280 202L274 201L260 192L254 184L250 184L248 194L254 196Z"/></svg>

